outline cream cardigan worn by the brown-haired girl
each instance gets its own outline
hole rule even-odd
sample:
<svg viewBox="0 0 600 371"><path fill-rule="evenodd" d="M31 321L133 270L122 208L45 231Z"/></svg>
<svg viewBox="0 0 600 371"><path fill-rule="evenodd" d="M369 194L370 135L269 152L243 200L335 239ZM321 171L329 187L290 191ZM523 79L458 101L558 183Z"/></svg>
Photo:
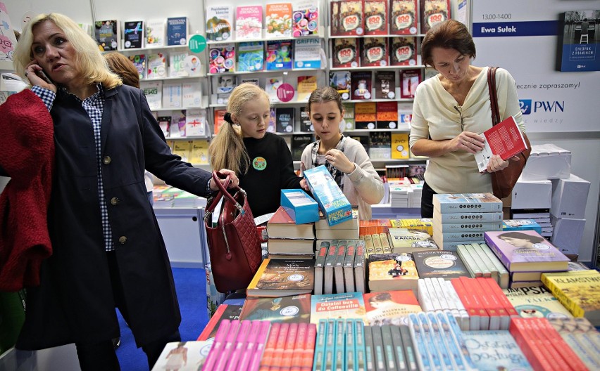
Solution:
<svg viewBox="0 0 600 371"><path fill-rule="evenodd" d="M344 174L342 191L350 204L358 205L358 217L361 220L370 220L370 205L379 203L383 198L383 182L361 142L349 137L346 137L344 141L346 141L344 155L350 162L354 162L356 168L350 174ZM309 144L302 152L301 161L306 169L314 167L311 158L312 148L313 144Z"/></svg>

